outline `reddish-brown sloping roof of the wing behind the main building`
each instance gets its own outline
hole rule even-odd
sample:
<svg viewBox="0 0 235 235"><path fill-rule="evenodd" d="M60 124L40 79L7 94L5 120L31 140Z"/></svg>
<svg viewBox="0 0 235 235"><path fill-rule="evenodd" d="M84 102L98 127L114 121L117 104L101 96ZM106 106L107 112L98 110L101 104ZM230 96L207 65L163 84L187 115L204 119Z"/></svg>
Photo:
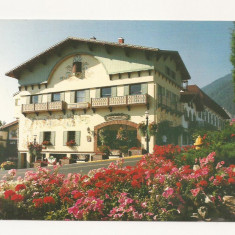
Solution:
<svg viewBox="0 0 235 235"><path fill-rule="evenodd" d="M211 99L207 94L205 94L197 85L189 85L187 91L181 93L181 101L182 102L190 102L189 97L197 97L200 99L200 103L204 106L207 106L215 113L218 113L224 119L230 119L229 115L226 111L218 105L213 99ZM199 101L196 101L197 103Z"/></svg>

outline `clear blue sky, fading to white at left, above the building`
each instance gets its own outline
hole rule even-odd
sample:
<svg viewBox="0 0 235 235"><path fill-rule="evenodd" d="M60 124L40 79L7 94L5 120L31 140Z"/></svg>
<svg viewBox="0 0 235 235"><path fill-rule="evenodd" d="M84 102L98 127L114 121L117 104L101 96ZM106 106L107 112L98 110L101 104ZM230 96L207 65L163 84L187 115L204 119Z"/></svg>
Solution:
<svg viewBox="0 0 235 235"><path fill-rule="evenodd" d="M0 20L0 120L14 120L18 81L5 73L66 37L90 38L178 51L203 87L231 72L231 21Z"/></svg>

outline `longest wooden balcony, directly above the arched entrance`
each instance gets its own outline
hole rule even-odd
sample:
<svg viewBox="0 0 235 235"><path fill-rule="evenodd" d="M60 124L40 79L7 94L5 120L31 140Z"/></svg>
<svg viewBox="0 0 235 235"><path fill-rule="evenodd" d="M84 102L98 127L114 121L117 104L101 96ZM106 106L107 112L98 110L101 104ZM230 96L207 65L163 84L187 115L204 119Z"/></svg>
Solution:
<svg viewBox="0 0 235 235"><path fill-rule="evenodd" d="M91 107L95 112L96 108L108 107L112 111L112 107L126 106L130 110L130 106L146 105L148 106L148 95L127 95L116 97L92 98Z"/></svg>

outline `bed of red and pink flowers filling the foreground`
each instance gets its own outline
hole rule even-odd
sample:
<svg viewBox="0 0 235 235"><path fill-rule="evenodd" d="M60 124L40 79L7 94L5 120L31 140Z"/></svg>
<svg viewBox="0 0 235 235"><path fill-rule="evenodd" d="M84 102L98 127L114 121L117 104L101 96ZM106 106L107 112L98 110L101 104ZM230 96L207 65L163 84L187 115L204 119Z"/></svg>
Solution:
<svg viewBox="0 0 235 235"><path fill-rule="evenodd" d="M65 177L57 166L51 172L28 171L24 179L1 182L0 219L185 221L229 216L222 199L234 195L235 165L215 164L212 152L197 159L197 167L177 166L172 156L179 151L156 147L136 166L124 167L119 160L88 175ZM8 178L14 174L9 172Z"/></svg>

